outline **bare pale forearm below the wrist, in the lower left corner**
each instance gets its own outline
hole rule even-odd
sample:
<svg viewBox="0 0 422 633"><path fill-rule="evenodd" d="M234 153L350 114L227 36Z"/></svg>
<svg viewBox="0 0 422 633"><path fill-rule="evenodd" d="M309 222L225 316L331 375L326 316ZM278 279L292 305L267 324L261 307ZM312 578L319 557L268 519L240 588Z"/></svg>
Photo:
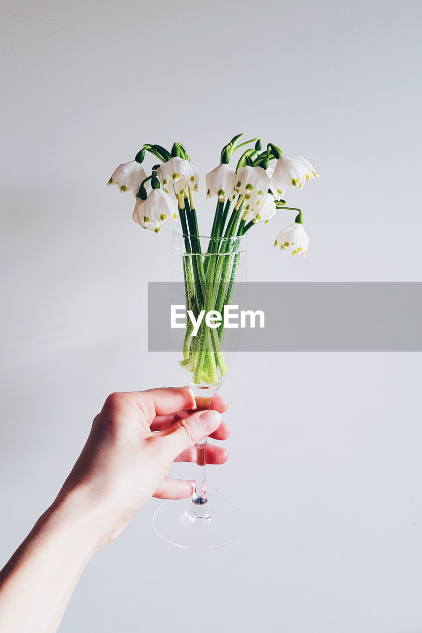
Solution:
<svg viewBox="0 0 422 633"><path fill-rule="evenodd" d="M102 544L101 510L82 491L56 500L0 572L0 632L53 633Z"/></svg>

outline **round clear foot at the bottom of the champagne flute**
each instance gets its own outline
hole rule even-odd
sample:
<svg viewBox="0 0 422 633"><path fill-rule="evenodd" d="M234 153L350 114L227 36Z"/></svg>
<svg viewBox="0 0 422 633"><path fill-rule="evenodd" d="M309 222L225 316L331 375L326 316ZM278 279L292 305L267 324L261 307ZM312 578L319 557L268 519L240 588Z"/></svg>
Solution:
<svg viewBox="0 0 422 633"><path fill-rule="evenodd" d="M164 501L154 512L154 530L178 548L213 549L231 543L243 531L242 511L216 494L207 497L208 502L202 506L189 499ZM198 513L202 516L198 517Z"/></svg>

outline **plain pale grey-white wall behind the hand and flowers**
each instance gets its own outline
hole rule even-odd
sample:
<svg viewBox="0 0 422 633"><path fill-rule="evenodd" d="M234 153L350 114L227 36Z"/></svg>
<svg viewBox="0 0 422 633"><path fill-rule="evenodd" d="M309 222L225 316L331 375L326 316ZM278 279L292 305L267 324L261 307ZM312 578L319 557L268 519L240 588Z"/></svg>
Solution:
<svg viewBox="0 0 422 633"><path fill-rule="evenodd" d="M421 9L9 1L2 562L108 393L182 382L174 360L146 351L146 283L167 278L173 225L143 231L132 194L105 186L144 142L187 146L204 229L204 174L234 134L316 166L320 180L288 198L304 210L307 258L271 248L294 218L279 211L251 231L250 280L421 280ZM280 298L280 310L295 306ZM172 548L152 530L152 500L90 562L61 633L420 632L420 380L417 353L239 354L222 391L231 458L209 468L209 489L237 500L244 534Z"/></svg>

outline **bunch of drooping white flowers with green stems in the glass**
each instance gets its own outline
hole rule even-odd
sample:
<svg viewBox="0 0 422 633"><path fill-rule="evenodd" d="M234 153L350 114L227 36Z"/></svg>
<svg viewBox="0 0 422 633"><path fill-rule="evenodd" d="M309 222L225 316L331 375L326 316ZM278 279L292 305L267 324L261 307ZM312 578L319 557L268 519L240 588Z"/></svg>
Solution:
<svg viewBox="0 0 422 633"><path fill-rule="evenodd" d="M142 228L159 234L169 218L180 218L189 255L183 258L186 309L192 314L180 365L193 385L218 385L228 372L221 349L223 324L209 327L202 320L194 334L192 321L210 311L221 314L223 306L230 304L242 237L254 225L270 222L277 210L290 210L297 213L295 221L278 233L274 246L290 250L293 256L306 256L309 244L302 211L287 206L284 198L289 187L302 189L307 180L318 178L314 167L303 156L284 156L272 143L263 149L259 138L240 142L242 136L236 135L223 147L220 165L206 175L206 196L216 196L217 202L205 249L194 199L199 191L199 170L181 143L175 142L171 151L144 144L135 160L119 165L108 182L121 192L133 191L132 218ZM150 175L143 167L147 153L159 160ZM237 164L231 166L235 155L239 156Z"/></svg>

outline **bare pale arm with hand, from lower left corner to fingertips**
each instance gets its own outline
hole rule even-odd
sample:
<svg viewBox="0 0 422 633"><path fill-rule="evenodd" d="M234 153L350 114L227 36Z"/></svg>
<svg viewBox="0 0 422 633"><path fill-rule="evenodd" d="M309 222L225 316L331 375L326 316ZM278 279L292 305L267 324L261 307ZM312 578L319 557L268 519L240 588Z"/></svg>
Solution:
<svg viewBox="0 0 422 633"><path fill-rule="evenodd" d="M195 461L195 444L230 435L214 397L194 411L188 387L111 394L53 504L0 572L0 632L54 633L90 558L152 497L188 498L194 482L167 477L173 461ZM228 459L209 444L207 463Z"/></svg>

